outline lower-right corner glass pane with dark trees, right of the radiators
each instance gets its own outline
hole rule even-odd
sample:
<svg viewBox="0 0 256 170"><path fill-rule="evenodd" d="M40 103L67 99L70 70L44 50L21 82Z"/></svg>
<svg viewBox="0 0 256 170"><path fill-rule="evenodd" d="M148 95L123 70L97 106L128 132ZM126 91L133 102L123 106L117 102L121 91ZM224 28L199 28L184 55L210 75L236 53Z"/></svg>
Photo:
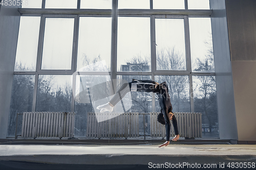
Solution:
<svg viewBox="0 0 256 170"><path fill-rule="evenodd" d="M203 137L219 137L215 76L193 76L195 112L202 113Z"/></svg>

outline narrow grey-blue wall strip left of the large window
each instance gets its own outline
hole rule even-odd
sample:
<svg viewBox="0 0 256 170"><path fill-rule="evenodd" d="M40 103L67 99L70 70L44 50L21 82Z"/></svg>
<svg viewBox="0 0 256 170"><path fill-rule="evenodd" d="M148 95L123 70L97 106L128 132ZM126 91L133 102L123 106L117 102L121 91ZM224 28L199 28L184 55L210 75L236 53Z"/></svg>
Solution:
<svg viewBox="0 0 256 170"><path fill-rule="evenodd" d="M0 9L0 138L6 138L20 14L17 6Z"/></svg>

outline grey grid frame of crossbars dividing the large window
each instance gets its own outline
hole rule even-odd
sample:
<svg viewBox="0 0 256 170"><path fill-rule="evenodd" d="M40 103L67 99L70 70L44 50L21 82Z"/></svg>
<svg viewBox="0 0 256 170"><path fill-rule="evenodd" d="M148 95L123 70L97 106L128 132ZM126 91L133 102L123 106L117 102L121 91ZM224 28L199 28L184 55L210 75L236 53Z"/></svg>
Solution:
<svg viewBox="0 0 256 170"><path fill-rule="evenodd" d="M163 75L181 75L189 77L189 93L190 93L190 111L194 112L194 96L193 96L193 80L192 76L215 76L215 72L193 72L191 70L191 55L190 55L190 39L189 39L189 22L188 17L209 17L212 10L188 10L187 0L184 0L185 9L153 9L153 0L150 1L150 9L118 9L118 0L112 1L111 9L80 9L80 0L77 0L77 9L46 9L45 0L42 0L42 8L19 8L21 16L41 16L39 39L37 49L36 71L14 71L14 75L35 75L33 105L32 111L36 107L36 94L38 86L38 75L73 75L72 91L76 87L76 75L110 75L111 79L116 79L117 75L147 75L155 80L155 76ZM77 50L78 50L78 33L79 33L79 17L112 17L112 42L111 42L111 70L110 71L95 71L95 72L77 72ZM119 16L127 17L150 17L150 36L151 36L151 71L147 72L125 72L117 71L117 22ZM44 41L45 18L46 17L64 17L75 18L73 46L72 46L72 63L69 70L51 70L41 69L42 45ZM156 69L156 18L183 18L184 19L184 35L186 49L186 70L157 70ZM71 111L75 111L75 99L72 95ZM155 108L155 95L152 95L152 111Z"/></svg>

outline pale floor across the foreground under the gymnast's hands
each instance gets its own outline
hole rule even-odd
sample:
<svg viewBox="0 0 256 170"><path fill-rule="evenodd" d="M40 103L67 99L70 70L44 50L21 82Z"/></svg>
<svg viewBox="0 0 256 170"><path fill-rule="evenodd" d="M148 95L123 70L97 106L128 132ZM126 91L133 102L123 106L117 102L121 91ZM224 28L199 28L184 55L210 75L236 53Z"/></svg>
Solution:
<svg viewBox="0 0 256 170"><path fill-rule="evenodd" d="M256 163L256 145L169 144L162 148L158 148L156 144L0 145L0 164L11 167L17 162L55 165L80 164L90 165L90 167L93 167L92 165L97 165L97 167L99 165L104 165L104 167L106 165L143 165L145 168L150 162L153 164L186 162L190 164L217 164L219 166L220 162L226 165L229 162Z"/></svg>

